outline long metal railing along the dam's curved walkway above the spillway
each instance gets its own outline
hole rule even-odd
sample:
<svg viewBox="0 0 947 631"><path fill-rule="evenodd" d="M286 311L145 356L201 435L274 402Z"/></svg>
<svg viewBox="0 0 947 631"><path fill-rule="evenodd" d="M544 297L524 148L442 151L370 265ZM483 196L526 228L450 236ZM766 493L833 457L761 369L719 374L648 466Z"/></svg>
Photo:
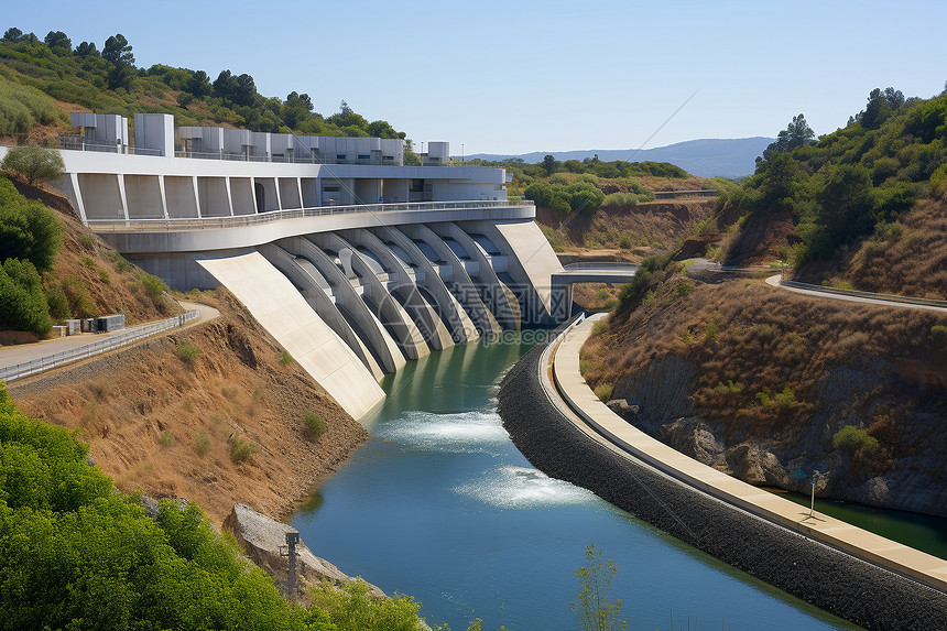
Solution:
<svg viewBox="0 0 947 631"><path fill-rule="evenodd" d="M348 213L370 213L373 215L392 211L427 211L456 210L477 208L502 208L509 206L533 206L533 202L523 200L511 203L507 200L479 202L417 202L404 204L361 204L355 206L318 206L313 208L296 208L293 210L271 210L257 215L237 215L233 217L207 217L194 219L89 219L89 228L97 232L172 232L184 230L207 230L219 228L240 228L246 226L262 226L285 219L304 217L320 217L323 215L340 215Z"/></svg>

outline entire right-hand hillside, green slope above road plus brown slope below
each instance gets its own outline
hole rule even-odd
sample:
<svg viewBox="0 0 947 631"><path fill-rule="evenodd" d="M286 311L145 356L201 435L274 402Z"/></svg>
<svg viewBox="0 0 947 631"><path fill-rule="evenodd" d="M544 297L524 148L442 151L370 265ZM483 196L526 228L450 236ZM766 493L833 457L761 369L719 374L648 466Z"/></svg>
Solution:
<svg viewBox="0 0 947 631"><path fill-rule="evenodd" d="M947 297L945 133L947 95L875 90L817 142L795 117L718 202L720 260L794 259L797 278ZM795 489L796 468L830 469L828 496L945 514L941 316L688 273L672 258L642 262L584 348L600 396L744 480Z"/></svg>

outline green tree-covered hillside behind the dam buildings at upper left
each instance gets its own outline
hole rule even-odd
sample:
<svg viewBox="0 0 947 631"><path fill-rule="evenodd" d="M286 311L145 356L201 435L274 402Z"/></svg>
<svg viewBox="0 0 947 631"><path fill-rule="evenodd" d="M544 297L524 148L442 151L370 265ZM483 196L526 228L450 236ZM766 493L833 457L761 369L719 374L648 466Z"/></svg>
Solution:
<svg viewBox="0 0 947 631"><path fill-rule="evenodd" d="M405 138L387 121L366 120L345 101L339 112L324 117L313 111L305 93L264 97L246 73L224 69L214 78L205 70L162 64L138 68L132 45L121 34L108 37L99 51L91 42L73 47L61 31L40 40L8 29L0 40L0 137L22 140L42 124L52 128L48 139L68 128L65 112L74 106L130 119L138 112L173 113L181 126ZM412 159L409 152L406 160Z"/></svg>

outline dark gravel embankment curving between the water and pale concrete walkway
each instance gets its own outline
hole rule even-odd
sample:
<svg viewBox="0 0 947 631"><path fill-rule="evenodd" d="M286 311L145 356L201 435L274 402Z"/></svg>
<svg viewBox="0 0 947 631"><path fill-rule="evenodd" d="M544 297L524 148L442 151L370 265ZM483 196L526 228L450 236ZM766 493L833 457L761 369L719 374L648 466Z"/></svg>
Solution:
<svg viewBox="0 0 947 631"><path fill-rule="evenodd" d="M503 425L538 469L866 629L943 625L947 595L749 515L586 437L538 383L544 346L520 360L499 394Z"/></svg>

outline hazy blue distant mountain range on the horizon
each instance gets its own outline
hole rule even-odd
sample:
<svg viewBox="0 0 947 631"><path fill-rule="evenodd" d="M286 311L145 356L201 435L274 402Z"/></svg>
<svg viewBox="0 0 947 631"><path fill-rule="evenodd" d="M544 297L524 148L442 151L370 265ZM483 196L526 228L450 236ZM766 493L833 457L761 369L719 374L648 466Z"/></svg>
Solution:
<svg viewBox="0 0 947 631"><path fill-rule="evenodd" d="M670 162L684 171L700 177L740 177L751 175L755 170L756 156L773 142L773 138L730 138L688 140L667 146L643 149L589 149L586 151L534 151L520 155L499 153L477 153L466 157L497 161L520 157L525 163L542 162L552 154L558 161L585 160L598 154L602 162L625 160L630 162Z"/></svg>

